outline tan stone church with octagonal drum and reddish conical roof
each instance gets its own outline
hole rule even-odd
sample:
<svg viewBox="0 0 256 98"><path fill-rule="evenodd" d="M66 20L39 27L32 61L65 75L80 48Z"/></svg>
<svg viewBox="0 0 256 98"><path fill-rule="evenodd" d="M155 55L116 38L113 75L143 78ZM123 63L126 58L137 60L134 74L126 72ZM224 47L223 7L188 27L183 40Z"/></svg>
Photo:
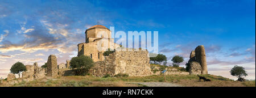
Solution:
<svg viewBox="0 0 256 98"><path fill-rule="evenodd" d="M103 33L100 33L103 32ZM105 35L105 36L103 36ZM106 36L107 35L107 36ZM98 49L98 43L101 41L102 49ZM104 46L104 44L108 44ZM85 42L80 43L78 46L78 55L89 56L93 59L94 62L104 61L103 53L110 49L116 49L120 45L114 43L114 39L111 38L111 31L109 28L106 28L104 25L94 25L86 29L85 31Z"/></svg>

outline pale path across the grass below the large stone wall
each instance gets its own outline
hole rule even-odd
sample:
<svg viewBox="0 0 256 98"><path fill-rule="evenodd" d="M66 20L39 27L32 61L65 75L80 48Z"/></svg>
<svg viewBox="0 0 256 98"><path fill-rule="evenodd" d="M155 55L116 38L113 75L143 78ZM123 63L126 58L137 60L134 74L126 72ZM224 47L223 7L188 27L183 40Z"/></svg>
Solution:
<svg viewBox="0 0 256 98"><path fill-rule="evenodd" d="M142 84L148 87L182 87L177 84L168 83L168 82L131 82L134 84Z"/></svg>

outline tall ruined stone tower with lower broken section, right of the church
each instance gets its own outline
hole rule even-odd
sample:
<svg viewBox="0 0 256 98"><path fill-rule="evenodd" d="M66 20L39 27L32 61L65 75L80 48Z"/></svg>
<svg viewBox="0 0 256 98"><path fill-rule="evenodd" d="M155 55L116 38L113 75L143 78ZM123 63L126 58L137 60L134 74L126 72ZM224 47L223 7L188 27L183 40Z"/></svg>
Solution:
<svg viewBox="0 0 256 98"><path fill-rule="evenodd" d="M189 58L189 74L208 74L204 45L192 50Z"/></svg>

